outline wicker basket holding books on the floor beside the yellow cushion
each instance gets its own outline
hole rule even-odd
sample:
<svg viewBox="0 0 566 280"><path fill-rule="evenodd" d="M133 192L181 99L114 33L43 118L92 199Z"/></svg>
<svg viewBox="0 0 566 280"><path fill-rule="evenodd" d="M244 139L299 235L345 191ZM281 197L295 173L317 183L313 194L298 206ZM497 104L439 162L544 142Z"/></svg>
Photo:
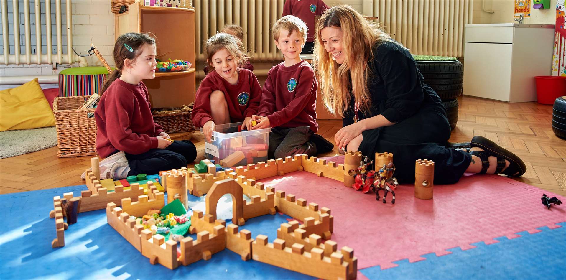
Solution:
<svg viewBox="0 0 566 280"><path fill-rule="evenodd" d="M87 118L96 109L77 109L90 96L55 97L53 114L57 128L57 156L95 156L95 117Z"/></svg>

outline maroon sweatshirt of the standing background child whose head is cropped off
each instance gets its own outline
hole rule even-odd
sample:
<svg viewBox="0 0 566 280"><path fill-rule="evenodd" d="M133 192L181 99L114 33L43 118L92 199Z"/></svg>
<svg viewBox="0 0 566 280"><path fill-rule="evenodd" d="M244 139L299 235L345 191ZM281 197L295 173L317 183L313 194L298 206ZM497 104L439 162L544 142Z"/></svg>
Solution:
<svg viewBox="0 0 566 280"><path fill-rule="evenodd" d="M287 0L281 16L294 15L303 20L308 28L308 43L315 40L315 16L322 15L328 6L322 0Z"/></svg>

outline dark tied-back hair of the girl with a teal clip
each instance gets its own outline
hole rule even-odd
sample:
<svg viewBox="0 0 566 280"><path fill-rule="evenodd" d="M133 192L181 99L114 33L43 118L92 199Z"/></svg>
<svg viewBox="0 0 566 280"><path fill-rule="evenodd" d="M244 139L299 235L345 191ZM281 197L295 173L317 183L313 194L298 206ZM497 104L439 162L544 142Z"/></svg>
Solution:
<svg viewBox="0 0 566 280"><path fill-rule="evenodd" d="M106 77L102 86L102 93L110 87L110 85L122 75L124 67L124 59L135 60L141 54L141 46L143 44L155 45L155 38L148 33L125 33L118 37L114 44L114 63L116 69ZM127 45L127 46L126 46ZM102 95L101 93L101 95Z"/></svg>

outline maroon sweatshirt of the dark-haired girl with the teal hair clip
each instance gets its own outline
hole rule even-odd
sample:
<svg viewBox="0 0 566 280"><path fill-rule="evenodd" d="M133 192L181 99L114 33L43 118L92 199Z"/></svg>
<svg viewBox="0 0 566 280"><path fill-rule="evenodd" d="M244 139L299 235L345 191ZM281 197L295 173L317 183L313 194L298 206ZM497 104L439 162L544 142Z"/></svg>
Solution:
<svg viewBox="0 0 566 280"><path fill-rule="evenodd" d="M157 148L163 128L153 122L149 94L143 82L116 79L102 94L95 111L96 152L105 158L117 150L141 154Z"/></svg>

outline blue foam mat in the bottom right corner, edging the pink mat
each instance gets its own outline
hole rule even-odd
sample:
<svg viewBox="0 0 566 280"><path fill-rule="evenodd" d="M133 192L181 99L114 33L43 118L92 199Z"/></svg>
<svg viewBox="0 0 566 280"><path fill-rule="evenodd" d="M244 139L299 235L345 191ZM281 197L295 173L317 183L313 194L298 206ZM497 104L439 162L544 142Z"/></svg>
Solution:
<svg viewBox="0 0 566 280"><path fill-rule="evenodd" d="M561 227L541 232L517 232L521 237L495 238L498 243L477 246L462 251L448 249L451 254L422 255L426 260L410 263L396 261L395 268L381 270L379 266L362 269L370 279L566 279L566 222Z"/></svg>

